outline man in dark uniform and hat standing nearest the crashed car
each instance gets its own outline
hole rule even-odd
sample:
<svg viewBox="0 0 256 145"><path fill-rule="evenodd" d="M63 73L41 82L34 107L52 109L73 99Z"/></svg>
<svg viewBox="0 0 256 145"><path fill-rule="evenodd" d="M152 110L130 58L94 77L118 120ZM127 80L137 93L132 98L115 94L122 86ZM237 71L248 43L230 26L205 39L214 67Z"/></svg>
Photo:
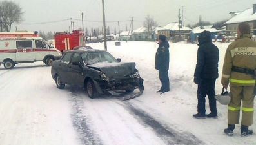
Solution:
<svg viewBox="0 0 256 145"><path fill-rule="evenodd" d="M159 79L162 83L160 90L157 92L168 92L170 91L170 82L168 77L169 70L169 43L166 41L165 35L159 35L158 39L159 47L155 54L155 69L159 71Z"/></svg>

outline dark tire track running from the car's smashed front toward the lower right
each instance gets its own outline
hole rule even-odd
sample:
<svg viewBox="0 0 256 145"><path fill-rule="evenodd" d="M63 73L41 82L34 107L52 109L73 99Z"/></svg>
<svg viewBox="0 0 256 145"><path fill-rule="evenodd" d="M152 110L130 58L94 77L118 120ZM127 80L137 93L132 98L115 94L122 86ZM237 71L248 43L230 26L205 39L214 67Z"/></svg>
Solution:
<svg viewBox="0 0 256 145"><path fill-rule="evenodd" d="M153 128L155 133L161 137L162 140L165 140L167 144L204 144L200 139L195 137L192 133L189 132L179 132L173 130L172 128L166 128L162 126L161 123L150 117L145 111L135 108L129 102L124 102L130 112L140 121L142 124L146 124Z"/></svg>

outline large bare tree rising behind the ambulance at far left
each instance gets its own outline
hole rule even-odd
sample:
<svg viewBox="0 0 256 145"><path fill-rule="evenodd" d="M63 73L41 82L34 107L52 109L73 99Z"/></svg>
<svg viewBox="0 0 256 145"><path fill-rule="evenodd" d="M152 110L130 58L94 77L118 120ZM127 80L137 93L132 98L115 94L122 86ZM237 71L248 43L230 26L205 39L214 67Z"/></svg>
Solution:
<svg viewBox="0 0 256 145"><path fill-rule="evenodd" d="M19 4L13 1L2 1L0 3L0 17L3 29L10 32L13 23L21 23L23 14Z"/></svg>

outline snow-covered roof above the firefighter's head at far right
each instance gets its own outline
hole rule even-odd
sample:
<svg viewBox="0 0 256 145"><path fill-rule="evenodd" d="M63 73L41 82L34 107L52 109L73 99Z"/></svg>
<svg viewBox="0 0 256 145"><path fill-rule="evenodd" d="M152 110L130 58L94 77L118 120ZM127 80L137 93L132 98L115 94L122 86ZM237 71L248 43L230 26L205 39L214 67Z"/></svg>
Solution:
<svg viewBox="0 0 256 145"><path fill-rule="evenodd" d="M256 20L256 13L253 14L253 8L248 8L241 12L241 14L236 15L230 20L226 21L224 24L233 24L233 23L241 23L246 21Z"/></svg>

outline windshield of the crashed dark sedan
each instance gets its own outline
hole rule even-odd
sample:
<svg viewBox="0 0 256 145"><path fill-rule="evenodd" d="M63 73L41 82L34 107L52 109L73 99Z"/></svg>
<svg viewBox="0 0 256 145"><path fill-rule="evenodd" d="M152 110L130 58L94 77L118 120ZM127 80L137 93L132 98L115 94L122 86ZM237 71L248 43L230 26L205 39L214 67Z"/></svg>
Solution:
<svg viewBox="0 0 256 145"><path fill-rule="evenodd" d="M84 64L117 62L117 59L108 52L86 52L82 53L81 57Z"/></svg>

